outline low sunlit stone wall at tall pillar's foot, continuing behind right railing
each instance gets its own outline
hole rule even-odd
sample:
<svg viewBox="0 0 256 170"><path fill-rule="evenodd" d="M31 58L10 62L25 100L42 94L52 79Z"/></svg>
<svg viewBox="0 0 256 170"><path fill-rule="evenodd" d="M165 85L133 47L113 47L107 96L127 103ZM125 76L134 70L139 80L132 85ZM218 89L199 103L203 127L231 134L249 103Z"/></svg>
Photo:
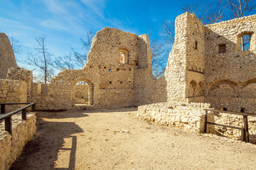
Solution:
<svg viewBox="0 0 256 170"><path fill-rule="evenodd" d="M178 128L203 132L205 125L205 108L210 108L208 103L154 103L139 106L138 118L152 121L162 125L176 125ZM255 114L256 115L256 114ZM208 122L243 127L242 115L208 112ZM208 132L241 139L241 130L208 125ZM249 137L251 143L256 143L256 117L248 116Z"/></svg>

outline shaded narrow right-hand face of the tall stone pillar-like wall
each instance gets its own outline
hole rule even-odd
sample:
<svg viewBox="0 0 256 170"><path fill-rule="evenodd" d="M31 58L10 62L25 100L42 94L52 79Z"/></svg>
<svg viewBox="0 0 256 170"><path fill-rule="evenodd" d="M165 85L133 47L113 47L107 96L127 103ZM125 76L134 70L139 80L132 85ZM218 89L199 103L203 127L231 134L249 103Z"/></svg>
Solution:
<svg viewBox="0 0 256 170"><path fill-rule="evenodd" d="M205 70L205 27L193 14L188 14L187 36L187 77L186 98L188 102L203 103L204 101L204 70Z"/></svg>

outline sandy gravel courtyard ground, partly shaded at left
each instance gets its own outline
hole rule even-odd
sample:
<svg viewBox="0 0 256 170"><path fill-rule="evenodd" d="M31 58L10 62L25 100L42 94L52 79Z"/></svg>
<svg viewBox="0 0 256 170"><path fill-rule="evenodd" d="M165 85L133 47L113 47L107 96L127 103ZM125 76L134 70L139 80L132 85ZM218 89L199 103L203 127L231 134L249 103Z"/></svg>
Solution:
<svg viewBox="0 0 256 170"><path fill-rule="evenodd" d="M38 112L36 136L11 169L256 169L256 145L136 114L137 108Z"/></svg>

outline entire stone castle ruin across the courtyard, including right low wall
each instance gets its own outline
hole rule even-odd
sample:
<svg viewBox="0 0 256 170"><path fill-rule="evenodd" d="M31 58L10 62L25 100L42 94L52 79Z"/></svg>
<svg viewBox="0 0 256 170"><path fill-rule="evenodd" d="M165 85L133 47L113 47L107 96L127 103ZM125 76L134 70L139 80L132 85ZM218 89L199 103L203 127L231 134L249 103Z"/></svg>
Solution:
<svg viewBox="0 0 256 170"><path fill-rule="evenodd" d="M92 40L85 67L63 69L50 84L33 83L31 71L16 67L2 34L0 101L33 101L38 110L139 106L139 118L198 132L204 108L256 113L256 15L203 26L195 15L183 13L175 27L161 79L151 71L148 35L104 28ZM249 50L241 45L243 37L250 40ZM242 125L233 116L212 118ZM255 122L249 122L251 137L256 135ZM240 131L220 131L240 137Z"/></svg>

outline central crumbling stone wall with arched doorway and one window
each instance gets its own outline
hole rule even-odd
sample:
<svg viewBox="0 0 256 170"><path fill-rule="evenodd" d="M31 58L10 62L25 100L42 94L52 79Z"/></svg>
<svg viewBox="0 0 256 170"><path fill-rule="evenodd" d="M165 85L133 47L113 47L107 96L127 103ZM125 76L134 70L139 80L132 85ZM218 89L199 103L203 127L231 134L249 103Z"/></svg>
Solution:
<svg viewBox="0 0 256 170"><path fill-rule="evenodd" d="M83 69L64 69L50 84L31 84L32 101L41 110L72 108L81 103L75 97L79 81L88 84L85 100L95 108L166 101L165 79L152 75L148 36L117 28L97 32Z"/></svg>

